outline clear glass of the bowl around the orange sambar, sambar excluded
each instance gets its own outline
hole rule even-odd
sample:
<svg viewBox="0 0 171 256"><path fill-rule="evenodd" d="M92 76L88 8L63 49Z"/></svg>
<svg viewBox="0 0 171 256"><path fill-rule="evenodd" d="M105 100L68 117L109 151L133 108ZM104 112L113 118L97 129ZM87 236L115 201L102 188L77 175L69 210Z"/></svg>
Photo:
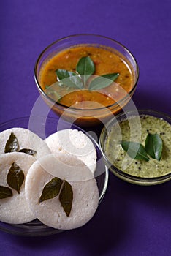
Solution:
<svg viewBox="0 0 171 256"><path fill-rule="evenodd" d="M118 84L120 89L123 90L123 97L116 100L112 105L104 107L104 105L100 104L99 106L96 105L96 108L77 108L75 105L67 107L66 105L62 105L60 101L56 102L56 100L51 98L49 94L47 95L45 92L46 90L42 89L40 84L41 70L53 56L56 56L56 54L60 53L62 50L74 48L77 45L88 45L96 48L110 49L111 52L120 56L128 69L132 72L132 89L130 89L129 93L126 93L126 91ZM42 51L34 67L34 78L42 99L45 100L47 105L49 105L58 116L62 116L67 121L75 122L75 124L78 124L80 127L91 127L99 123L104 123L113 116L113 113L120 112L123 106L132 98L137 87L138 77L139 69L137 61L126 47L113 39L94 34L76 34L58 39ZM94 100L94 102L95 101L96 100Z"/></svg>

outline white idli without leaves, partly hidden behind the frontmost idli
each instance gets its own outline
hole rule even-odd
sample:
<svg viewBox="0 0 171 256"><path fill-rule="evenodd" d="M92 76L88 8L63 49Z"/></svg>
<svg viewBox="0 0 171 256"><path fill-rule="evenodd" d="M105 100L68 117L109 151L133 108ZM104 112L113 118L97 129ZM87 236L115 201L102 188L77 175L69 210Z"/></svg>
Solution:
<svg viewBox="0 0 171 256"><path fill-rule="evenodd" d="M92 171L96 170L96 149L91 139L77 129L63 129L45 139L52 153L67 153L82 160Z"/></svg>

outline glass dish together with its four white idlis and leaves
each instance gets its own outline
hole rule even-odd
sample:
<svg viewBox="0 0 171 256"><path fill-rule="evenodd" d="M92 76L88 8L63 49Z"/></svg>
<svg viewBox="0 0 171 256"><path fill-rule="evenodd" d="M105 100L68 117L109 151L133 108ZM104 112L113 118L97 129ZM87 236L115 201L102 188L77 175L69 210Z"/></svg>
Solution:
<svg viewBox="0 0 171 256"><path fill-rule="evenodd" d="M91 135L61 118L37 116L0 124L0 141L0 230L47 236L94 217L108 170Z"/></svg>

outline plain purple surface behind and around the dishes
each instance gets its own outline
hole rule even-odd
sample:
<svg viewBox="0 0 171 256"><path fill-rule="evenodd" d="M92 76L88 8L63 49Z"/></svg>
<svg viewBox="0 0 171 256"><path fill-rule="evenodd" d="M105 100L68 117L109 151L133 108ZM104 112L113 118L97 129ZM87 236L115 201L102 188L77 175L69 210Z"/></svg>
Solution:
<svg viewBox="0 0 171 256"><path fill-rule="evenodd" d="M0 123L30 115L39 97L39 53L79 33L102 34L129 48L140 67L137 108L171 115L170 12L170 0L0 1ZM170 182L138 187L110 173L107 194L87 225L44 238L0 231L0 255L171 255L170 192Z"/></svg>

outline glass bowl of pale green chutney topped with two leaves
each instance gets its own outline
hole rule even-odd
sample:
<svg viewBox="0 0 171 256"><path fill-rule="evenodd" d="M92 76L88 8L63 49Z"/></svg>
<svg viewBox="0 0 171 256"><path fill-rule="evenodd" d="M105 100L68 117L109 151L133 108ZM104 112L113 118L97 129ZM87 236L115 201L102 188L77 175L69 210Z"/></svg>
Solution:
<svg viewBox="0 0 171 256"><path fill-rule="evenodd" d="M154 110L130 110L102 129L99 145L107 167L132 184L171 179L171 117Z"/></svg>

